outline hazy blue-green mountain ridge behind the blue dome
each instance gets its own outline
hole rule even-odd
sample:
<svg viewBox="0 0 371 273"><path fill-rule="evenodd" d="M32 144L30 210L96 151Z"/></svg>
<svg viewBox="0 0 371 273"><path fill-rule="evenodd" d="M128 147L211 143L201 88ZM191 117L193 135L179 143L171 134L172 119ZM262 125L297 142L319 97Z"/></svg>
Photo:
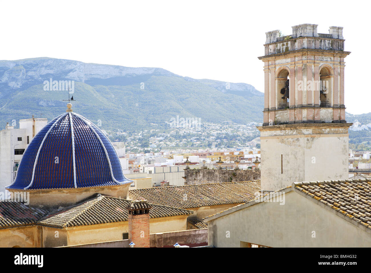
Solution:
<svg viewBox="0 0 371 273"><path fill-rule="evenodd" d="M65 111L68 91L43 82L75 81L73 108L103 129L165 126L172 117L236 123L262 119L264 94L252 85L182 77L162 68L131 68L38 57L0 61L0 129L34 114L51 120ZM104 114L105 113L105 114Z"/></svg>

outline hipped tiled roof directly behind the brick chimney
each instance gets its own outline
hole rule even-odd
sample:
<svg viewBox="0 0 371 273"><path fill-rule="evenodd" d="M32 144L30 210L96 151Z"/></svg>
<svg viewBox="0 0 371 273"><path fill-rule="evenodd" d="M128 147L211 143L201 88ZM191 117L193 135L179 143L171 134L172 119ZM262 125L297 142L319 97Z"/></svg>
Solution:
<svg viewBox="0 0 371 273"><path fill-rule="evenodd" d="M48 214L39 221L40 225L52 227L76 227L128 221L128 205L131 200L111 196L97 196L78 205L63 208ZM175 215L190 215L193 211L150 204L150 218Z"/></svg>

